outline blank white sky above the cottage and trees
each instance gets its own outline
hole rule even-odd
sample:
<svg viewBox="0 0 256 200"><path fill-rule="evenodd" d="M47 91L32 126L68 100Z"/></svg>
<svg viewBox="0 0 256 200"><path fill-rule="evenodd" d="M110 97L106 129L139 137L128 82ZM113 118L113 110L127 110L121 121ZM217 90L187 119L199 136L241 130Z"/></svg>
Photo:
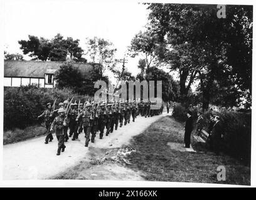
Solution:
<svg viewBox="0 0 256 200"><path fill-rule="evenodd" d="M4 1L4 50L20 53L18 41L28 35L51 39L57 33L80 39L103 37L117 48L116 58L124 58L132 37L147 23L146 6L137 1ZM24 56L24 59L31 59ZM139 58L127 58L132 75L139 73Z"/></svg>

